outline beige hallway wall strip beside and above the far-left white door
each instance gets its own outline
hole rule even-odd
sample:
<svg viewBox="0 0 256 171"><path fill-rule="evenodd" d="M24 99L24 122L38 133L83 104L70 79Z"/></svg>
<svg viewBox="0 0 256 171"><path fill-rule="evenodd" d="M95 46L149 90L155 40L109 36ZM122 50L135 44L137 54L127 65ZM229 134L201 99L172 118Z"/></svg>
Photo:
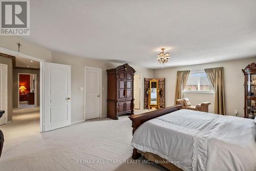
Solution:
<svg viewBox="0 0 256 171"><path fill-rule="evenodd" d="M8 65L8 121L12 120L12 59L0 56L0 63Z"/></svg>

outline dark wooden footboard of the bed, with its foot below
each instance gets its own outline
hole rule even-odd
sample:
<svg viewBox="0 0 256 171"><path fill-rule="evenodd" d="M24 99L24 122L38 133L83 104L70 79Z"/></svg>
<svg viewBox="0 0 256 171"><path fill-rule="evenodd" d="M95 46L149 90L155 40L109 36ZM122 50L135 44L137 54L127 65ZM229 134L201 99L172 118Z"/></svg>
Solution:
<svg viewBox="0 0 256 171"><path fill-rule="evenodd" d="M138 129L138 127L144 122L157 118L162 115L166 115L168 113L172 113L174 111L178 111L181 109L181 107L182 105L178 104L178 105L170 106L168 108L158 109L156 111L146 112L139 115L130 115L129 118L132 120L133 134ZM141 154L137 152L136 148L134 148L132 158L136 160L140 157L141 157Z"/></svg>

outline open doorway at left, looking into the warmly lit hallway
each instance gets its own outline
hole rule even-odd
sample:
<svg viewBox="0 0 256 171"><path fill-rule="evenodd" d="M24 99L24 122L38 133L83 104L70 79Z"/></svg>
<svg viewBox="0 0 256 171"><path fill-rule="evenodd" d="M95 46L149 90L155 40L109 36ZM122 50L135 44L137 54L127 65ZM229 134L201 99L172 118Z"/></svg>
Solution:
<svg viewBox="0 0 256 171"><path fill-rule="evenodd" d="M20 54L1 52L0 110L5 111L5 116L0 125L10 136L15 135L15 129L28 134L40 132L40 62ZM23 104L20 106L20 103Z"/></svg>

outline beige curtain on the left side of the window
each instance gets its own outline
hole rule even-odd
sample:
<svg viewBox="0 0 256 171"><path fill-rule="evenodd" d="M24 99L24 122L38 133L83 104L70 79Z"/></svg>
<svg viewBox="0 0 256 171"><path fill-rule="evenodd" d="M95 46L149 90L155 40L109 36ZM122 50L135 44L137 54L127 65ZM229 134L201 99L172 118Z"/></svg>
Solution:
<svg viewBox="0 0 256 171"><path fill-rule="evenodd" d="M190 73L190 71L178 71L177 72L175 100L183 97L183 91L186 87L189 73Z"/></svg>

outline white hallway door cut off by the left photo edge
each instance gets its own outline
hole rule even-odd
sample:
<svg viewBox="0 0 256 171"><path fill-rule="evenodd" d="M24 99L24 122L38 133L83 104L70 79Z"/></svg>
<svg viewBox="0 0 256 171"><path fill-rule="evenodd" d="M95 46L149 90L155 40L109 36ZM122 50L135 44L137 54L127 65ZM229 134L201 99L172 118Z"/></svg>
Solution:
<svg viewBox="0 0 256 171"><path fill-rule="evenodd" d="M0 110L7 113L7 66L0 65ZM7 114L0 118L0 125L7 123Z"/></svg>

